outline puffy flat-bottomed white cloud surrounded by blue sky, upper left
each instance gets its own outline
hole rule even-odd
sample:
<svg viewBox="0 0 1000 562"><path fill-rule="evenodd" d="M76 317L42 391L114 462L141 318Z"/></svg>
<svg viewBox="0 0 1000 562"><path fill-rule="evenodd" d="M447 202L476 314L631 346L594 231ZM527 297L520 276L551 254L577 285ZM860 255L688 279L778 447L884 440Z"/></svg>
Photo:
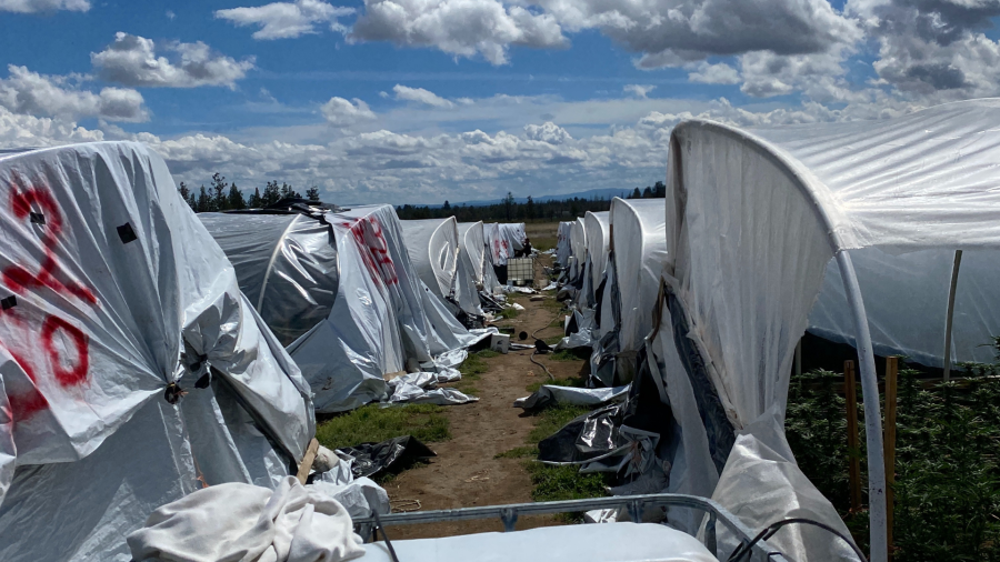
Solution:
<svg viewBox="0 0 1000 562"><path fill-rule="evenodd" d="M201 41L167 43L164 49L176 54L172 62L157 57L156 48L152 39L119 31L114 42L101 52L90 53L90 60L102 80L148 88L233 88L253 68L253 58L237 61L212 52Z"/></svg>

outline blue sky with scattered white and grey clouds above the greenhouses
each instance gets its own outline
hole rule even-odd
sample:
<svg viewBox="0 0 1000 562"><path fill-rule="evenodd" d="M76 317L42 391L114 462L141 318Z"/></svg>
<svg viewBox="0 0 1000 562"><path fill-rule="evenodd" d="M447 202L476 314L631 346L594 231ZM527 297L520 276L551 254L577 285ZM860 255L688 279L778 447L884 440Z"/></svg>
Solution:
<svg viewBox="0 0 1000 562"><path fill-rule="evenodd" d="M439 203L648 185L670 129L1000 90L1000 0L0 0L0 148Z"/></svg>

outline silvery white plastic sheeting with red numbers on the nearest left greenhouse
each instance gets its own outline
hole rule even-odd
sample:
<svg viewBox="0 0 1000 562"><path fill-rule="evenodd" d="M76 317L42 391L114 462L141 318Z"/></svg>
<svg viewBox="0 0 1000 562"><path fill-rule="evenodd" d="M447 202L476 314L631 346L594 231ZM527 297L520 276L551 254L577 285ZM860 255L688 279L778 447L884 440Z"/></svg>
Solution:
<svg viewBox="0 0 1000 562"><path fill-rule="evenodd" d="M301 459L309 387L162 159L0 155L0 559L127 561L199 480L274 486Z"/></svg>

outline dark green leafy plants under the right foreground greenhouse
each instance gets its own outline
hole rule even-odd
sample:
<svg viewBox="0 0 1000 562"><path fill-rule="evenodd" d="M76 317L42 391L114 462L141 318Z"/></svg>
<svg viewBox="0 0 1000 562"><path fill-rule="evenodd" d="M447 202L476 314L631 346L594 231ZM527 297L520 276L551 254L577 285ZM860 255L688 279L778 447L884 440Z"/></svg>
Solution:
<svg viewBox="0 0 1000 562"><path fill-rule="evenodd" d="M998 365L966 365L971 380L924 389L919 372L901 369L898 387L896 509L898 562L1000 560L1000 381ZM868 513L849 513L844 400L832 390L843 375L793 378L786 430L799 466L833 502L859 545ZM859 410L863 410L860 397ZM867 492L867 484L862 490Z"/></svg>

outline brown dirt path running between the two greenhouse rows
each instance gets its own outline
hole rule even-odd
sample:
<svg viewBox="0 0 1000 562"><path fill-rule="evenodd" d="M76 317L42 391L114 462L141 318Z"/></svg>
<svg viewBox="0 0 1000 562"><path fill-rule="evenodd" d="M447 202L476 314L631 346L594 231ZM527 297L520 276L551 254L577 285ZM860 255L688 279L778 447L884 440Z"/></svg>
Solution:
<svg viewBox="0 0 1000 562"><path fill-rule="evenodd" d="M546 297L552 298L551 294ZM552 322L556 314L552 308L528 298L517 301L526 310L518 318L497 325L513 327L516 333L523 330L531 334ZM560 333L558 328L546 328L538 335L548 338ZM531 501L532 485L523 468L524 461L496 458L524 446L528 433L534 426L533 418L522 415L520 409L512 407L516 399L529 394L526 390L529 384L547 379L544 371L531 363L530 355L530 351L521 351L486 360L489 370L476 381L479 402L447 409L452 439L431 446L438 456L429 464L408 470L386 483L392 500L419 500L422 511ZM582 363L549 362L544 357L539 360L546 362L558 378L578 374ZM554 524L554 519L526 518L519 521L518 529L547 524ZM397 526L392 534L393 538L418 539L500 530L500 522L490 520Z"/></svg>

